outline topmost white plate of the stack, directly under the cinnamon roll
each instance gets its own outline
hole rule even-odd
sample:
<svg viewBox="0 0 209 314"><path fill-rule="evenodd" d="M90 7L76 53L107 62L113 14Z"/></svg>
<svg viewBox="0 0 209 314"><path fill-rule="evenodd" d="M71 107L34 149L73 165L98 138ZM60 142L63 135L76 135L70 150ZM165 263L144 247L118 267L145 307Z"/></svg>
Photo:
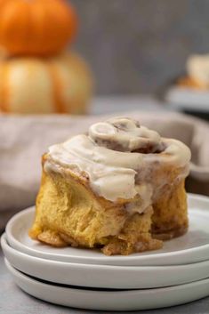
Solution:
<svg viewBox="0 0 209 314"><path fill-rule="evenodd" d="M6 227L7 240L16 250L32 256L60 261L120 266L179 265L209 259L209 197L189 195L189 232L167 241L161 250L129 256L106 256L99 250L55 248L28 237L35 209L30 207L12 217Z"/></svg>

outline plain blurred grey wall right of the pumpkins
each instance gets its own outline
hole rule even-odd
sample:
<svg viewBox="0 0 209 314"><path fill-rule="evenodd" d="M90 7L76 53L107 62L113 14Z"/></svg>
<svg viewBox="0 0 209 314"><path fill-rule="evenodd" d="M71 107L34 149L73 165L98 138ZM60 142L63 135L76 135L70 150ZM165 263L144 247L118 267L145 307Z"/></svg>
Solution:
<svg viewBox="0 0 209 314"><path fill-rule="evenodd" d="M153 93L209 52L209 0L71 0L97 93Z"/></svg>

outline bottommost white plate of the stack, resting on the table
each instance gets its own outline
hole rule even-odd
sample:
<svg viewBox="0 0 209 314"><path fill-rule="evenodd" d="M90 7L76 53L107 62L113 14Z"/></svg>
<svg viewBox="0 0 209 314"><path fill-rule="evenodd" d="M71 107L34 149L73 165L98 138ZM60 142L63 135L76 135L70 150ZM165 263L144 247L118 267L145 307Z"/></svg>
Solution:
<svg viewBox="0 0 209 314"><path fill-rule="evenodd" d="M87 310L151 310L192 302L209 295L209 279L147 290L99 291L54 286L30 278L5 261L12 278L28 294L46 302Z"/></svg>

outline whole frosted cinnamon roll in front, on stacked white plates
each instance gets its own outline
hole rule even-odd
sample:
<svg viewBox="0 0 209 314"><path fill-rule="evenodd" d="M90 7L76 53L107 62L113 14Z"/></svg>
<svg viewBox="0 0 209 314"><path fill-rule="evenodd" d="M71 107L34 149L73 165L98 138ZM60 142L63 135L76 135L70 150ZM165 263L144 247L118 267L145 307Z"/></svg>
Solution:
<svg viewBox="0 0 209 314"><path fill-rule="evenodd" d="M190 151L138 121L116 117L50 147L31 238L52 246L131 254L188 229Z"/></svg>

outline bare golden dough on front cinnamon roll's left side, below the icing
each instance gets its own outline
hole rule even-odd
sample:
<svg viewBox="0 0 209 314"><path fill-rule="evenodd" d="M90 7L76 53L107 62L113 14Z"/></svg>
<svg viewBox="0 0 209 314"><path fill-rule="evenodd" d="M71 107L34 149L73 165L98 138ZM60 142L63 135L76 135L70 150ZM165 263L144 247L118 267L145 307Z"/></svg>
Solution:
<svg viewBox="0 0 209 314"><path fill-rule="evenodd" d="M67 178L43 172L36 221L29 235L52 246L103 247L109 255L161 247L162 242L149 233L152 208L130 215L125 209L127 203L130 201L114 204L96 197L88 181L75 173L68 173Z"/></svg>

